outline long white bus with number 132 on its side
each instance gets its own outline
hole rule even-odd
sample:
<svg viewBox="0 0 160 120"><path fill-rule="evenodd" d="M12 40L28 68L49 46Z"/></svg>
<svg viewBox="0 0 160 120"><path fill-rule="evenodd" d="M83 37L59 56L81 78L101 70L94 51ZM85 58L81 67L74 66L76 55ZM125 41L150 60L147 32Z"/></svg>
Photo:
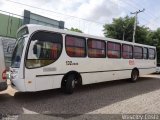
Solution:
<svg viewBox="0 0 160 120"><path fill-rule="evenodd" d="M19 91L62 88L130 78L156 70L156 48L40 25L18 30L11 82Z"/></svg>

